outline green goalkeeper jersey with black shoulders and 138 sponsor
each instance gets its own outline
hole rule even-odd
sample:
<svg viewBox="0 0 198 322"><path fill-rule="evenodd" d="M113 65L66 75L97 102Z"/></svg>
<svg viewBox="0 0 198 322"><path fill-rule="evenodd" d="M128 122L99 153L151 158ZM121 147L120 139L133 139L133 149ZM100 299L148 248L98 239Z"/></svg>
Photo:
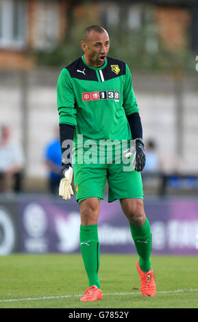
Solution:
<svg viewBox="0 0 198 322"><path fill-rule="evenodd" d="M86 140L132 139L127 115L138 112L132 75L125 62L107 57L94 68L78 58L62 69L57 84L60 124L75 125L77 135Z"/></svg>

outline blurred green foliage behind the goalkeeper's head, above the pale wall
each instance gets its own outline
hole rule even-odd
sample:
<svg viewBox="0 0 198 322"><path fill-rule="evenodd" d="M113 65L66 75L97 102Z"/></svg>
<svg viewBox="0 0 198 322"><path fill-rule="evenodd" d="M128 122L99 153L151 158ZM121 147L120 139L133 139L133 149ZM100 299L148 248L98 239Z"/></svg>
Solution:
<svg viewBox="0 0 198 322"><path fill-rule="evenodd" d="M147 49L146 35L143 31L135 33L121 30L110 32L109 55L124 60L130 69L135 71L173 71L195 72L195 55L190 51L168 51L160 39L151 40L157 50ZM64 42L51 51L34 53L38 65L66 66L84 52L80 45L79 36L68 36Z"/></svg>

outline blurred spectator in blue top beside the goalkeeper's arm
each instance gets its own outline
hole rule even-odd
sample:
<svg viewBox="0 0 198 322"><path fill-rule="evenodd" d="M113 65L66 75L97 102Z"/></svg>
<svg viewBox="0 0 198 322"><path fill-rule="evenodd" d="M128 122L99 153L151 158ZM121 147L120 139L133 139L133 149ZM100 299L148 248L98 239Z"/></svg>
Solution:
<svg viewBox="0 0 198 322"><path fill-rule="evenodd" d="M62 164L59 129L56 131L55 138L49 142L45 149L45 164L48 169L49 192L58 195Z"/></svg>

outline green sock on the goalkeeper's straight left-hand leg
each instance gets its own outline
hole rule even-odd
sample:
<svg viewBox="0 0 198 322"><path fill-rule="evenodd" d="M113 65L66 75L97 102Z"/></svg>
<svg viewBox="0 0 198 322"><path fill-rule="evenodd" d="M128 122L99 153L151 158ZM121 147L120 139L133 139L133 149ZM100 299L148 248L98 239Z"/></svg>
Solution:
<svg viewBox="0 0 198 322"><path fill-rule="evenodd" d="M79 241L84 267L88 275L89 286L96 285L100 288L101 286L98 279L100 247L97 225L81 225L79 230Z"/></svg>

